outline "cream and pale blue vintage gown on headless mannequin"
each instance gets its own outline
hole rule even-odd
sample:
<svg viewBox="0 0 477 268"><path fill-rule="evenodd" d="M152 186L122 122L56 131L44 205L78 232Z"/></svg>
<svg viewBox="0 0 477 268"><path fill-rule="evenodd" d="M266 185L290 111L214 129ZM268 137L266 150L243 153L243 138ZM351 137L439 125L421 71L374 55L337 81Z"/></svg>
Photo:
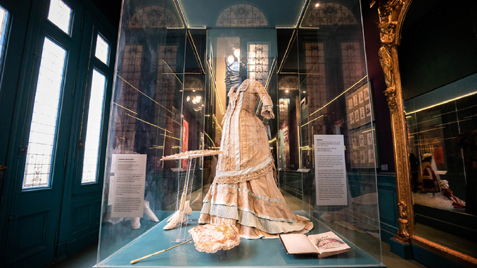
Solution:
<svg viewBox="0 0 477 268"><path fill-rule="evenodd" d="M306 233L313 228L293 214L276 186L274 161L265 125L255 115L274 118L272 99L265 87L246 79L229 91L222 120L222 141L215 179L203 200L200 224L231 224L244 238L275 238L283 233Z"/></svg>

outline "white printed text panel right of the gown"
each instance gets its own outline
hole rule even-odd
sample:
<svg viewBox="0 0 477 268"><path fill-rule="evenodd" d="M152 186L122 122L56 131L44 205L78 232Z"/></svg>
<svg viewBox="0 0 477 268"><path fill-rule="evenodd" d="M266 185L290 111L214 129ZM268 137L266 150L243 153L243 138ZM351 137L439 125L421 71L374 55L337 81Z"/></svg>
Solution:
<svg viewBox="0 0 477 268"><path fill-rule="evenodd" d="M317 205L348 205L343 135L314 135Z"/></svg>

